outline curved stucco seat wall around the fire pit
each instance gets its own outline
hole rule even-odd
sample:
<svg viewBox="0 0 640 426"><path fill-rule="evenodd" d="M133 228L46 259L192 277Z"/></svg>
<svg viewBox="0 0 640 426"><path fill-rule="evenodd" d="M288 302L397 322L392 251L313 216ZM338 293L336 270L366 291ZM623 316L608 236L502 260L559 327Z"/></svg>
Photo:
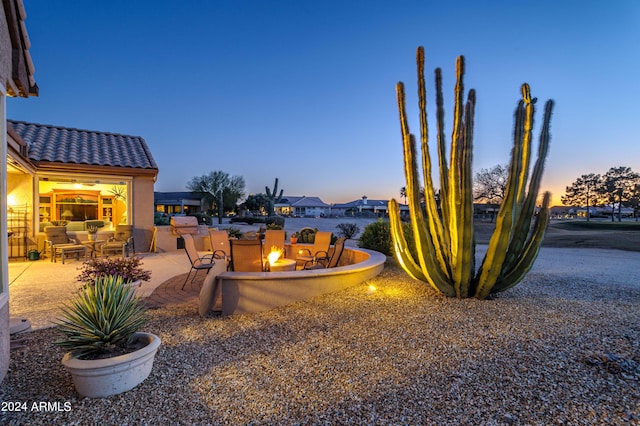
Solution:
<svg viewBox="0 0 640 426"><path fill-rule="evenodd" d="M340 265L330 269L291 272L224 272L222 315L261 312L354 286L384 269L385 255L345 248Z"/></svg>

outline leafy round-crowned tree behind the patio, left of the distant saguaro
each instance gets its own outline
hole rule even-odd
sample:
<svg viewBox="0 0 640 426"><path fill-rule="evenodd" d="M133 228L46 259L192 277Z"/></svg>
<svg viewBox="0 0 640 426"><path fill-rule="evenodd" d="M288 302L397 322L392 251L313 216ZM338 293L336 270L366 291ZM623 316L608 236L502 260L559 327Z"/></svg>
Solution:
<svg viewBox="0 0 640 426"><path fill-rule="evenodd" d="M240 198L244 196L244 178L230 177L222 171L211 172L208 175L196 176L187 183L187 189L192 192L206 192L207 202L215 206L218 213L218 223L222 223L225 209L233 209Z"/></svg>

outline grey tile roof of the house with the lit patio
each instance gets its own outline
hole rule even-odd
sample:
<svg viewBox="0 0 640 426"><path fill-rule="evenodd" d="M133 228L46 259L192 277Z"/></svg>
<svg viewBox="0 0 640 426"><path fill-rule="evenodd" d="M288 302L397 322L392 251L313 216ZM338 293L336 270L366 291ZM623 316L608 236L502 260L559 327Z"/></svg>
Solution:
<svg viewBox="0 0 640 426"><path fill-rule="evenodd" d="M32 161L158 169L140 136L7 120L29 146Z"/></svg>

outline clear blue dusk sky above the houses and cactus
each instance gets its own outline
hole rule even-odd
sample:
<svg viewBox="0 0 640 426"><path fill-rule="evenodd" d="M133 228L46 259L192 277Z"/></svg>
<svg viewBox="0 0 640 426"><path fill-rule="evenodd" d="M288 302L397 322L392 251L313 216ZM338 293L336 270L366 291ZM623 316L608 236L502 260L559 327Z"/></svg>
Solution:
<svg viewBox="0 0 640 426"><path fill-rule="evenodd" d="M447 133L456 57L475 88L474 171L506 163L527 82L552 98L543 189L585 173L640 172L640 2L505 0L24 0L40 96L7 116L142 136L156 191L194 176L274 179L325 202L399 198L405 185L395 84L418 131L415 51L443 69ZM537 139L538 128L535 130ZM435 159L434 159L435 160ZM559 201L558 201L559 203Z"/></svg>

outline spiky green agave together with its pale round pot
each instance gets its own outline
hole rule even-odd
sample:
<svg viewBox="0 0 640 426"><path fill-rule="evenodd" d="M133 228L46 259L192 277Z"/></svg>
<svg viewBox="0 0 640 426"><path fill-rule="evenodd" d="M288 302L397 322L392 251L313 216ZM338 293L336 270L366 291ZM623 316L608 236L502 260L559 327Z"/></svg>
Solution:
<svg viewBox="0 0 640 426"><path fill-rule="evenodd" d="M121 276L98 277L62 308L65 335L56 345L68 351L62 365L82 396L103 398L133 389L151 372L160 338L138 330L146 307Z"/></svg>

